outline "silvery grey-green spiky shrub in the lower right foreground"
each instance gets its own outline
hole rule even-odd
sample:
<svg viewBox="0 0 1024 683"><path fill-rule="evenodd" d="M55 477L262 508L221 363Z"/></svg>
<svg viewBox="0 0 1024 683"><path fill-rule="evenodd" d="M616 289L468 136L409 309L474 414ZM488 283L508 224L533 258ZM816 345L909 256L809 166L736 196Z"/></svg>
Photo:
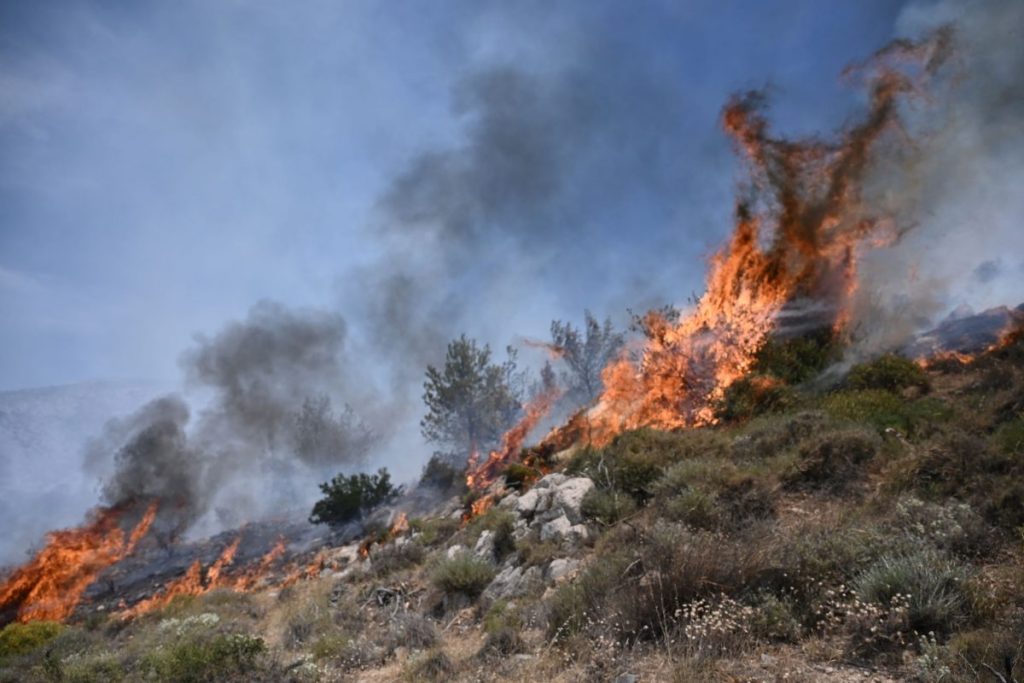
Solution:
<svg viewBox="0 0 1024 683"><path fill-rule="evenodd" d="M952 632L968 615L968 568L925 547L885 555L855 580L858 596L881 605L907 598L909 627L918 633Z"/></svg>

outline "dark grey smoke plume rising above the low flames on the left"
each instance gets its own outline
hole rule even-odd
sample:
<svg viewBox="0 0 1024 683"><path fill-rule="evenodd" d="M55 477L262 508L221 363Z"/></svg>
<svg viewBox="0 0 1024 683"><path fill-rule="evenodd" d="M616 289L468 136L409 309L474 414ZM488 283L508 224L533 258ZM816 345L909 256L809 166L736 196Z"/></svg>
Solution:
<svg viewBox="0 0 1024 683"><path fill-rule="evenodd" d="M187 384L208 394L197 420L169 395L87 445L103 503L159 501L158 528L171 537L307 505L316 481L365 464L376 441L347 404L373 413L371 390L346 370L345 339L340 315L272 302L197 338L181 356Z"/></svg>

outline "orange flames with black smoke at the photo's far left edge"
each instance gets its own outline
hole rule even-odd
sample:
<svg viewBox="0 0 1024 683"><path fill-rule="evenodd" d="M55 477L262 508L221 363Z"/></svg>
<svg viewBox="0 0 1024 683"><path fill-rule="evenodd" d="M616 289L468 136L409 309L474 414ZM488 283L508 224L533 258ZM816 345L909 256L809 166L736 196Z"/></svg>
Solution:
<svg viewBox="0 0 1024 683"><path fill-rule="evenodd" d="M0 586L0 614L13 611L19 622L71 616L96 577L134 551L157 516L157 504L146 508L127 539L120 525L126 512L97 508L87 524L49 533L46 546Z"/></svg>

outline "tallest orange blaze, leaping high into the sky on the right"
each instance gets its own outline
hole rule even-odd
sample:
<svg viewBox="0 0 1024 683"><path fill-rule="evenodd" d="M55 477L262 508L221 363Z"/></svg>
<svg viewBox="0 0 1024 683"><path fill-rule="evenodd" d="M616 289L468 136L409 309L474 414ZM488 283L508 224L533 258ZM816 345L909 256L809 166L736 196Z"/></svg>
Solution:
<svg viewBox="0 0 1024 683"><path fill-rule="evenodd" d="M842 332L857 288L857 259L898 239L892 221L871 215L860 185L873 145L898 129L897 103L941 62L948 35L901 42L861 66L870 85L865 120L836 143L771 137L762 97L725 108L723 125L744 156L749 196L736 207L727 245L711 260L703 296L678 322L649 313L647 339L602 373L604 392L588 415L601 445L642 426L679 429L715 422L714 404L746 375L787 306L825 303Z"/></svg>

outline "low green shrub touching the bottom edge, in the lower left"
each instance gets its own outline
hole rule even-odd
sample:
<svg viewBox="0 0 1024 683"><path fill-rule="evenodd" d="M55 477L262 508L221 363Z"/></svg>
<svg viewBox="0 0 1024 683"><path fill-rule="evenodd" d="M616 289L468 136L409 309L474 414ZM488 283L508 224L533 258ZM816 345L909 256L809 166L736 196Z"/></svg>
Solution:
<svg viewBox="0 0 1024 683"><path fill-rule="evenodd" d="M218 634L189 639L151 653L145 668L160 681L207 683L251 673L266 651L262 638Z"/></svg>

